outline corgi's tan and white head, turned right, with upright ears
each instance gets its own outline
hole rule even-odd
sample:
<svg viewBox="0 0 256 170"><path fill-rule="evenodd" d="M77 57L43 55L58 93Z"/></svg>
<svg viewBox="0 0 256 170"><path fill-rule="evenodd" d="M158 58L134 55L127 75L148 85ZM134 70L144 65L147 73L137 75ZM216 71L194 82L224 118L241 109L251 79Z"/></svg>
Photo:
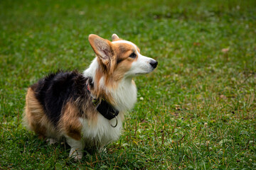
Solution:
<svg viewBox="0 0 256 170"><path fill-rule="evenodd" d="M102 72L115 80L152 72L158 64L156 60L141 55L137 45L119 39L116 34L112 35L112 42L90 34L89 42Z"/></svg>

